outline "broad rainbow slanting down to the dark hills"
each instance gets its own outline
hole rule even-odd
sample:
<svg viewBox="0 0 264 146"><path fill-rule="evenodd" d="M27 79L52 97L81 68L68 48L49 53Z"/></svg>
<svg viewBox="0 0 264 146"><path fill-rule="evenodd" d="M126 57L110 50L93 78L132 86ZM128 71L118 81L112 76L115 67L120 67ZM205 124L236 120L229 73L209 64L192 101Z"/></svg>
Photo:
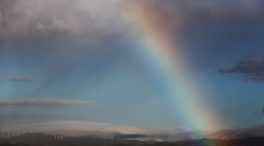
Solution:
<svg viewBox="0 0 264 146"><path fill-rule="evenodd" d="M147 5L129 3L128 19L137 32L140 53L159 71L168 96L178 113L184 115L189 128L204 131L202 136L222 129L224 122L210 107L212 104L191 73L186 71L184 55L160 21L161 17Z"/></svg>

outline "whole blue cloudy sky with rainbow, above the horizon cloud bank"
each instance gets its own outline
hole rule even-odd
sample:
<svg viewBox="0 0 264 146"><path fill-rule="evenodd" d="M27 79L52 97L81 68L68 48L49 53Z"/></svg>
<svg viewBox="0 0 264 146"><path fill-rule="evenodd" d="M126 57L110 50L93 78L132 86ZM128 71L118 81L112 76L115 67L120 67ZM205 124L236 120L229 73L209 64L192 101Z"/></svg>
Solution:
<svg viewBox="0 0 264 146"><path fill-rule="evenodd" d="M261 0L0 0L0 125L263 124L263 7Z"/></svg>

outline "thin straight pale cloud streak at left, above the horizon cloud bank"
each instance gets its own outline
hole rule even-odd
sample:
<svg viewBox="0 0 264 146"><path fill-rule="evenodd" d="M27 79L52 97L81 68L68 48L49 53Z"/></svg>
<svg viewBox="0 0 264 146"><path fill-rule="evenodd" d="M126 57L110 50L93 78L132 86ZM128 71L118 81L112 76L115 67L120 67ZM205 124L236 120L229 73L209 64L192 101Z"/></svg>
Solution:
<svg viewBox="0 0 264 146"><path fill-rule="evenodd" d="M0 106L63 106L90 105L95 101L77 99L2 99Z"/></svg>

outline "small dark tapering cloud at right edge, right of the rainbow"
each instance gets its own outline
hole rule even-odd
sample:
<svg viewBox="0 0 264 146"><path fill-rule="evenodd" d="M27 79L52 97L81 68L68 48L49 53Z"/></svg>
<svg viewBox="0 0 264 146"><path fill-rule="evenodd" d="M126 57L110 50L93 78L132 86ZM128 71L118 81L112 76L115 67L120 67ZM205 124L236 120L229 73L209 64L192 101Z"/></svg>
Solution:
<svg viewBox="0 0 264 146"><path fill-rule="evenodd" d="M247 79L264 81L264 55L249 56L230 68L220 70L221 73L240 73Z"/></svg>

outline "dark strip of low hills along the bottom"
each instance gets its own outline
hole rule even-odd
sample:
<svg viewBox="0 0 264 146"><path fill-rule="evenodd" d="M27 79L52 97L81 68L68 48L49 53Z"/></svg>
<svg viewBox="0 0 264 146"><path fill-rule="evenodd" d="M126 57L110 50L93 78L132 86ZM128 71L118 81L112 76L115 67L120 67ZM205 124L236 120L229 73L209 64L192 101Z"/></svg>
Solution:
<svg viewBox="0 0 264 146"><path fill-rule="evenodd" d="M200 139L158 142L100 139L93 137L65 137L47 134L22 134L10 138L2 138L0 140L0 146L264 146L264 137L248 137L232 140Z"/></svg>

